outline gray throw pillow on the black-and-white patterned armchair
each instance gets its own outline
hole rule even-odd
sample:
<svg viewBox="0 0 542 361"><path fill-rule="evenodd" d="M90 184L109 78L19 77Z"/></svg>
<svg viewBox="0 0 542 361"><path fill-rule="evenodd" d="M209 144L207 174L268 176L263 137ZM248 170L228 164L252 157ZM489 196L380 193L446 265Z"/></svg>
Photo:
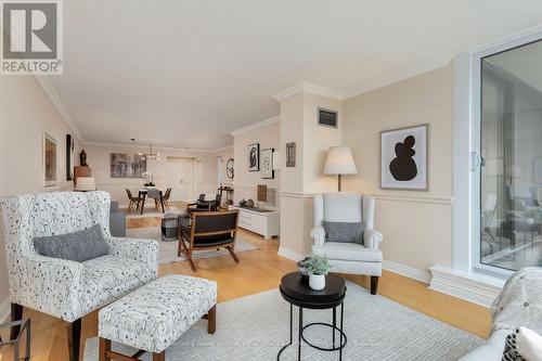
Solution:
<svg viewBox="0 0 542 361"><path fill-rule="evenodd" d="M36 237L34 247L41 256L76 262L85 262L109 253L100 224L74 233Z"/></svg>

